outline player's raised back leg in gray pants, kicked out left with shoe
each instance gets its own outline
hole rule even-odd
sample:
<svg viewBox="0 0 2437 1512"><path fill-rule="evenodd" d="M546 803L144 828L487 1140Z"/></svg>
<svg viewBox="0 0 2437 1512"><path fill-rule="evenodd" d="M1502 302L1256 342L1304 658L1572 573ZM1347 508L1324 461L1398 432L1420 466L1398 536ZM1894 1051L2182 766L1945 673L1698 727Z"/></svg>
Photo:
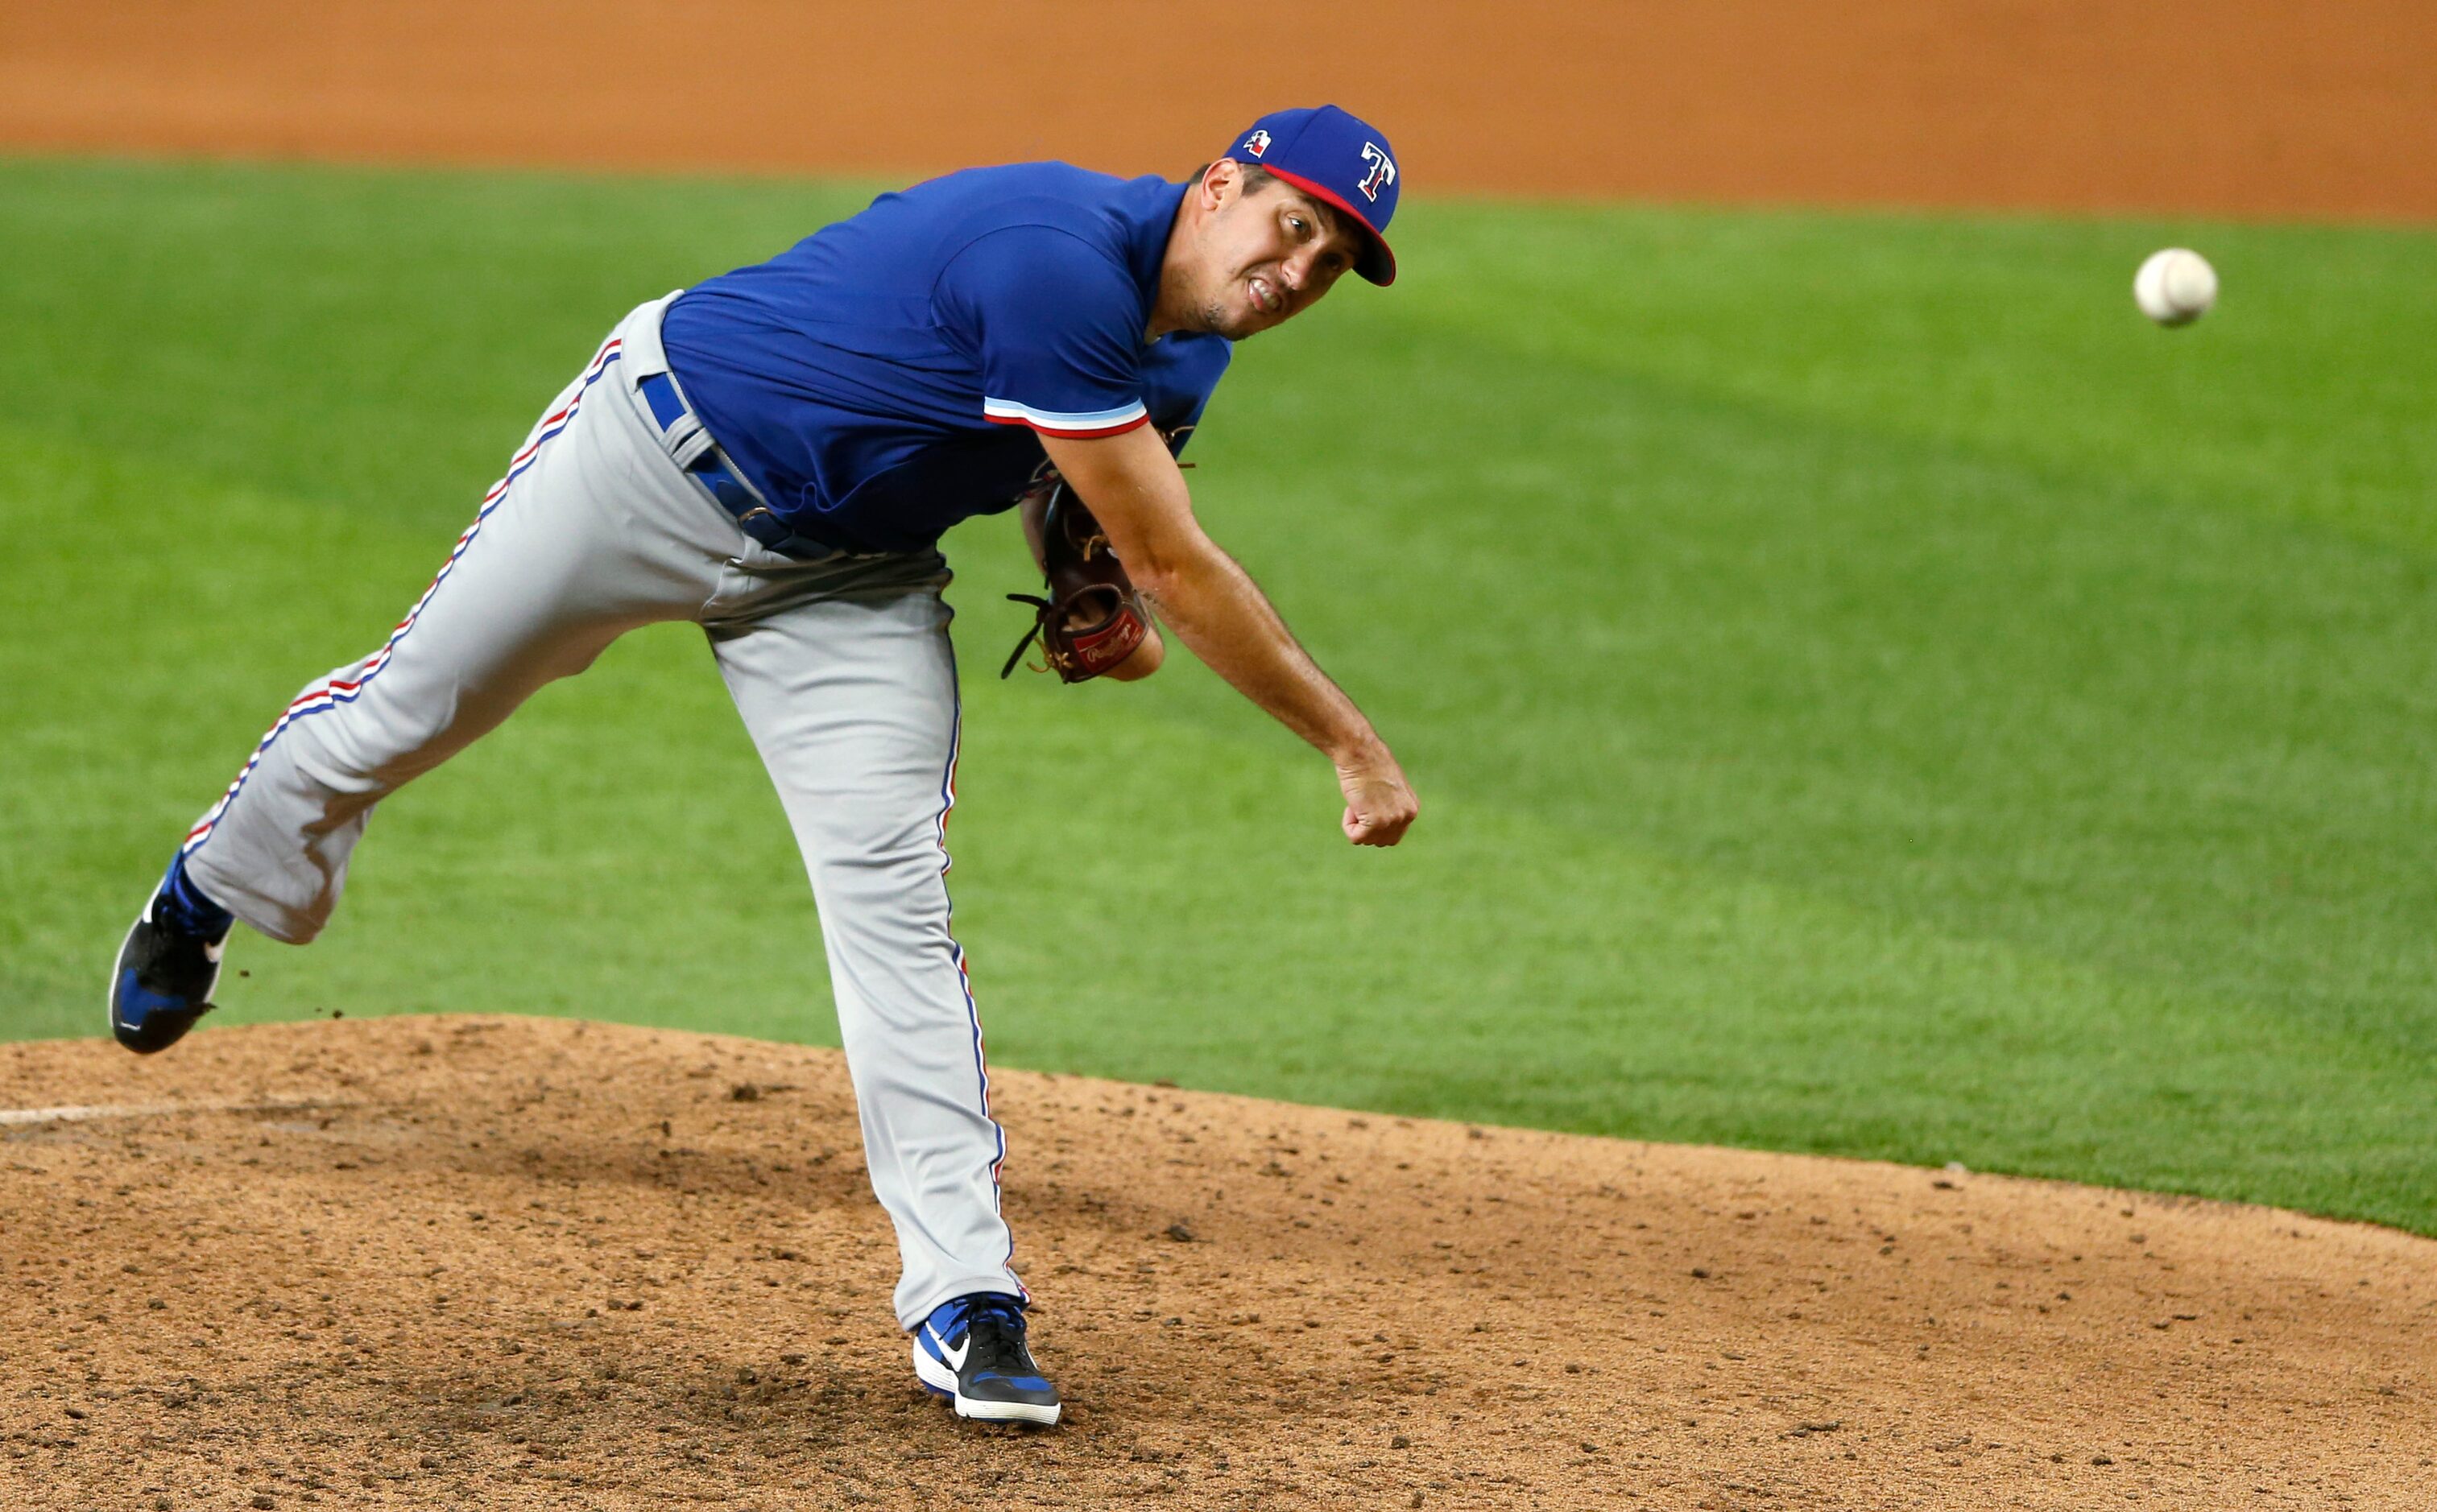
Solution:
<svg viewBox="0 0 2437 1512"><path fill-rule="evenodd" d="M690 618L716 589L734 523L668 465L619 360L612 336L380 650L305 684L188 833L112 971L122 1045L161 1049L195 1023L232 920L319 935L380 799L624 631Z"/></svg>

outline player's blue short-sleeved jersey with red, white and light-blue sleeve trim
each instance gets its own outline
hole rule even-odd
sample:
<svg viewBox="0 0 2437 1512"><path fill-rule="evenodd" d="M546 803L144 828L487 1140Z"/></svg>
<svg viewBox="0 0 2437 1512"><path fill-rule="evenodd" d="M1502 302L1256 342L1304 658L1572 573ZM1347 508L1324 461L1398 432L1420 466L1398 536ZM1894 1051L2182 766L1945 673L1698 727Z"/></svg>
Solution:
<svg viewBox="0 0 2437 1512"><path fill-rule="evenodd" d="M1231 343L1143 341L1184 187L1016 163L882 195L680 295L670 373L790 528L928 545L1014 506L1043 472L1041 433L1201 419Z"/></svg>

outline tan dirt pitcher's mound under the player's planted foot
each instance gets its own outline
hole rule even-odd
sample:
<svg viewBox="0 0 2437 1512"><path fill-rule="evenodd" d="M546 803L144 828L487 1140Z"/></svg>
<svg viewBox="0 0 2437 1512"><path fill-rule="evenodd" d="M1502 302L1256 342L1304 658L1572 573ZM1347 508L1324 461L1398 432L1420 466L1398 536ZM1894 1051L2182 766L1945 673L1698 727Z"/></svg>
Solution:
<svg viewBox="0 0 2437 1512"><path fill-rule="evenodd" d="M0 1505L2427 1505L2427 1239L992 1083L1045 1434L916 1390L836 1052L12 1045Z"/></svg>

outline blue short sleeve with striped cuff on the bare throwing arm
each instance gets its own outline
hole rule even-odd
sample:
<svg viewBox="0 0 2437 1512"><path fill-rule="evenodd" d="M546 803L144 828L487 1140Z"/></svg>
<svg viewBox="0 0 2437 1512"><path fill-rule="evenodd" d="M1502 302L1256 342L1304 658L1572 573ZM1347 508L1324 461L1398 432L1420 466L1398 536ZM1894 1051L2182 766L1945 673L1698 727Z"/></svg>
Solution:
<svg viewBox="0 0 2437 1512"><path fill-rule="evenodd" d="M980 360L982 419L1043 436L1116 436L1150 419L1141 304L1116 263L1050 226L977 239L933 290L941 324Z"/></svg>

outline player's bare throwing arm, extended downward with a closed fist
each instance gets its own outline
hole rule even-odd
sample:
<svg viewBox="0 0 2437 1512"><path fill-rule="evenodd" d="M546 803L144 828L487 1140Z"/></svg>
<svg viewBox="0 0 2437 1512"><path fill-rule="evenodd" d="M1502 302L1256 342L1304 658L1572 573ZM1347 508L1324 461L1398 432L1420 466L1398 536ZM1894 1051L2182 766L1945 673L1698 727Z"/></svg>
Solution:
<svg viewBox="0 0 2437 1512"><path fill-rule="evenodd" d="M1167 628L1335 762L1345 838L1396 845L1421 811L1404 769L1355 701L1296 645L1253 577L1201 531L1184 472L1158 429L1043 433L1041 446L1109 531L1126 575Z"/></svg>

